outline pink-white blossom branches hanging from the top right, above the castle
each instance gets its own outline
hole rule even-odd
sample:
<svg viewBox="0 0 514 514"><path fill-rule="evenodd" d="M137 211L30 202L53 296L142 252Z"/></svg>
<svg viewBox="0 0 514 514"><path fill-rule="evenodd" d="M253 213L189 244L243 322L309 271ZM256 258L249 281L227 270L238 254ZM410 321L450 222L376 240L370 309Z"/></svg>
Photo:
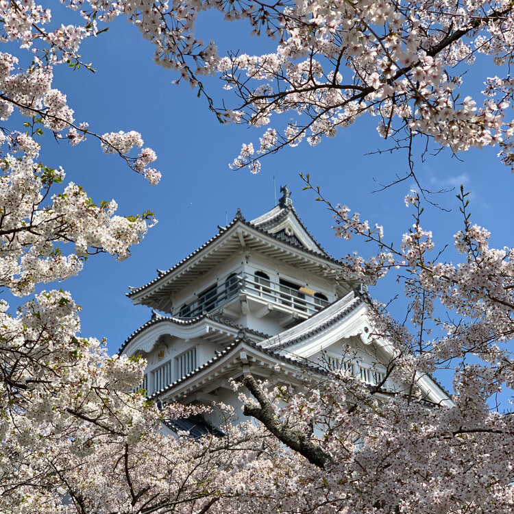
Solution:
<svg viewBox="0 0 514 514"><path fill-rule="evenodd" d="M295 117L258 154L243 147L233 167L304 138L316 145L366 112L380 119L384 138L424 134L452 151L500 145L503 162L512 167L512 121L504 119L512 104L511 78L487 79L481 106L458 92L476 53L495 64L512 58L513 8L507 1L459 4L317 0L271 9L260 2L206 0L184 1L167 12L161 2L152 6L149 24L142 6L129 12L156 45L158 64L180 71L193 86L195 75L221 73L225 90L234 91L240 103L220 108L220 117L255 127L269 124L273 114ZM199 11L209 8L222 10L230 21L246 19L255 34L277 38L276 52L217 56L212 42L205 45L194 34ZM447 73L450 68L454 75Z"/></svg>

